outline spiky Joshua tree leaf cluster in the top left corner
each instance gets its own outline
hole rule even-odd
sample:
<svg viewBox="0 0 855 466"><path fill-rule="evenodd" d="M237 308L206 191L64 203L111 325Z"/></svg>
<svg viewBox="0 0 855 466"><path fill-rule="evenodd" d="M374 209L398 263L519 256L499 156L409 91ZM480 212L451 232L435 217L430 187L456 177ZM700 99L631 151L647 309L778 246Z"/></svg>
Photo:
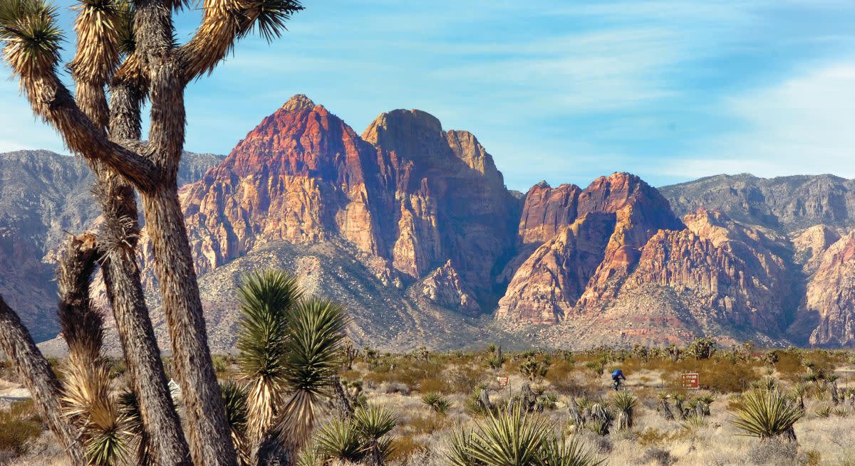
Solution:
<svg viewBox="0 0 855 466"><path fill-rule="evenodd" d="M3 59L13 73L38 78L56 71L62 50L56 18L56 7L41 0L0 2Z"/></svg>

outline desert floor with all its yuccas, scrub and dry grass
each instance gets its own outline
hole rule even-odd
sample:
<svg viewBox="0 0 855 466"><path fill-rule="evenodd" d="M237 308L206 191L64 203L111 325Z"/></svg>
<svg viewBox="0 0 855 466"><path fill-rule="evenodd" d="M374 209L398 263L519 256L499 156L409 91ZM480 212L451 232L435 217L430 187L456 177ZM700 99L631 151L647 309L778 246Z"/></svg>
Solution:
<svg viewBox="0 0 855 466"><path fill-rule="evenodd" d="M385 353L345 341L341 308L303 296L286 275L249 277L241 295L237 351L214 360L242 462L273 440L299 451L293 461L301 466L855 464L847 440L855 427L851 351L699 340L580 352L489 345ZM310 347L314 355L299 349ZM54 364L68 380L72 361ZM122 461L144 456L133 403L121 394L127 373L121 360L104 365L124 413L125 438L113 451ZM609 375L618 367L628 381L615 392ZM699 389L681 387L689 372L699 374ZM15 376L7 369L3 378ZM62 460L32 403L9 406L0 422L4 457ZM265 440L276 422L290 443ZM90 448L109 457L105 443Z"/></svg>

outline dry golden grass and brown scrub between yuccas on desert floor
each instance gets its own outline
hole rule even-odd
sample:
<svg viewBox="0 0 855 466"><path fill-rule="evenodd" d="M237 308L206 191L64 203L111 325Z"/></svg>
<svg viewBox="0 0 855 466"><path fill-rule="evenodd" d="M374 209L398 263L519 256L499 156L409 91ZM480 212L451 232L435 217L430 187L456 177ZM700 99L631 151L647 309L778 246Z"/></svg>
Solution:
<svg viewBox="0 0 855 466"><path fill-rule="evenodd" d="M610 370L620 367L628 376L626 389L637 397L634 426L618 432L616 428L607 436L598 436L582 429L575 433L581 441L609 464L652 466L698 465L806 465L855 466L852 448L852 430L855 429L855 408L848 402L833 405L828 387L823 383L809 383L805 395L808 413L795 424L798 445L777 441L760 442L740 435L728 420L740 404L740 393L753 383L761 382L771 372L781 390L788 391L795 382L808 374L805 360L812 361L815 370L831 371L848 363L851 352L786 351L777 350L775 364L764 363L755 351L754 357L734 357L726 350L713 358L695 360L651 357L647 361L635 358L629 352L592 351L575 353L571 357L551 354L551 364L542 381L532 384L536 391L558 393L554 411L544 416L558 431L574 432L570 427L568 406L575 399L590 399L593 403L610 399ZM364 352L363 352L364 354ZM519 393L528 380L519 372L520 362L529 355L506 353L506 362L498 370L491 370L485 360L486 352L448 352L424 354L379 354L376 357L357 358L353 370L341 374L343 380L362 381L363 394L370 403L386 406L398 413L400 424L392 432L395 451L389 466L440 466L445 465L445 439L453 429L473 425L474 417L467 412L467 401L474 387L486 387L494 405L503 405L510 394ZM542 358L544 353L536 355ZM604 374L595 375L587 369L590 361L605 359ZM232 370L231 361L221 364L221 374ZM225 368L222 366L225 365ZM224 370L222 370L224 369ZM699 391L682 390L675 384L681 372L699 372ZM497 376L508 376L509 387L498 387ZM840 391L846 381L838 381ZM852 387L852 381L849 383ZM675 420L666 421L657 410L657 395L664 390L672 395L669 404L674 408L673 395L685 397L685 405L700 395L716 397L710 416L700 422L681 422L674 411ZM445 415L432 411L422 403L422 394L442 393L451 401ZM828 416L816 412L828 406ZM20 409L20 408L19 408ZM50 439L42 434L32 443L26 457L16 461L21 464L62 464L61 452L50 457ZM53 444L50 444L53 445ZM47 453L45 453L47 452ZM45 456L47 454L48 456ZM34 458L38 457L38 461ZM0 464L3 459L0 458ZM17 463L15 463L17 464Z"/></svg>

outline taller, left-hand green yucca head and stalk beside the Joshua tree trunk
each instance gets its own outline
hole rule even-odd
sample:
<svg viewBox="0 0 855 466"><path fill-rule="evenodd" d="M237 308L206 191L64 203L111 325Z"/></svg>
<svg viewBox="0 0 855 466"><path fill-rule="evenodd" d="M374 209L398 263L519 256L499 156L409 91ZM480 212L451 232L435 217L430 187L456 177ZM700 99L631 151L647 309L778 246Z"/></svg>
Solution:
<svg viewBox="0 0 855 466"><path fill-rule="evenodd" d="M257 442L273 425L288 389L287 313L303 295L297 279L281 271L247 276L238 288L238 366L246 383L247 437Z"/></svg>

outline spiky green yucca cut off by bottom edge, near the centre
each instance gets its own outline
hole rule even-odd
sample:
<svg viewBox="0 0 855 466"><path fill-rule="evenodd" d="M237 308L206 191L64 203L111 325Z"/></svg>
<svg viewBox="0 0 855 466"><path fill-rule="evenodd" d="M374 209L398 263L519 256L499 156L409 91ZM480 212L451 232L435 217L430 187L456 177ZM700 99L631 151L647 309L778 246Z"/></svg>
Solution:
<svg viewBox="0 0 855 466"><path fill-rule="evenodd" d="M541 416L513 411L486 416L472 434L469 456L488 466L537 464L551 426Z"/></svg>

